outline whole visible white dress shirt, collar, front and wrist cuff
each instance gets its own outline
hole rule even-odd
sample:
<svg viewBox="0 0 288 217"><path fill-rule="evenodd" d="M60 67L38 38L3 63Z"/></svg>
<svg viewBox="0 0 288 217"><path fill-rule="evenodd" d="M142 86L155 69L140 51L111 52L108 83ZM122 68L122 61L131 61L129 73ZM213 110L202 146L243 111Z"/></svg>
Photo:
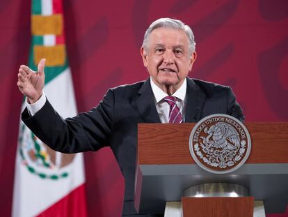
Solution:
<svg viewBox="0 0 288 217"><path fill-rule="evenodd" d="M170 111L170 105L166 103L163 98L168 96L167 93L162 91L153 81L152 78L150 77L150 83L152 87L152 91L154 93L154 99L155 99L155 105L157 108L157 112L159 114L159 118L161 123L168 123L169 122L169 111ZM175 93L173 93L172 96L176 97L176 104L179 107L179 110L182 114L182 119L183 122L185 121L185 114L186 114L186 87L187 87L187 82L186 78L182 84L182 86L177 89ZM36 112L38 112L46 103L46 96L44 91L42 91L42 96L33 104L29 104L27 99L26 99L26 107L29 110L29 113L31 116L33 116Z"/></svg>

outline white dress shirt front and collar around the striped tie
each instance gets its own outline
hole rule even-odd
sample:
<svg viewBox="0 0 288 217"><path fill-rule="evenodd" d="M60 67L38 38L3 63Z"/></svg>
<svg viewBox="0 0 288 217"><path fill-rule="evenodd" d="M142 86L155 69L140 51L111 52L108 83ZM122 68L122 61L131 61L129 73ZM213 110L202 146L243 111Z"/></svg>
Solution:
<svg viewBox="0 0 288 217"><path fill-rule="evenodd" d="M159 114L160 121L161 121L161 123L169 123L170 105L168 103L166 103L165 100L163 100L163 98L168 96L168 94L165 93L164 91L162 91L152 81L151 77L150 77L150 83L151 83L152 91L154 93L155 105L156 105L157 112ZM185 101L186 88L187 88L187 81L185 78L181 87L179 89L177 89L177 91L175 93L173 93L173 95L172 95L172 96L176 97L176 104L179 107L179 110L181 112L183 122L185 122L185 114L186 114L186 101Z"/></svg>

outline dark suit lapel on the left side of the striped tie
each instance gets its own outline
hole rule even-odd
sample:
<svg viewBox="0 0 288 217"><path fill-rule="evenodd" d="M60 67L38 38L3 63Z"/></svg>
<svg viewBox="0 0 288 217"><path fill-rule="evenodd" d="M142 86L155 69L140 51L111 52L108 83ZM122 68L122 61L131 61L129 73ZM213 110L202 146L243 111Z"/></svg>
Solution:
<svg viewBox="0 0 288 217"><path fill-rule="evenodd" d="M161 123L157 112L154 95L151 89L150 78L145 81L138 91L138 98L134 100L134 107L137 108L142 119L146 123Z"/></svg>

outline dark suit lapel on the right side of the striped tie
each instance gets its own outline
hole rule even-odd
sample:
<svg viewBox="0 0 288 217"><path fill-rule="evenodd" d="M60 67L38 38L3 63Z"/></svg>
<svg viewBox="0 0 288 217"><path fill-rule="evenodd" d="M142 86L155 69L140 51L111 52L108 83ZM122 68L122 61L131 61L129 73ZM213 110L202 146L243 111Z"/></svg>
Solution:
<svg viewBox="0 0 288 217"><path fill-rule="evenodd" d="M186 90L186 123L193 123L200 120L201 111L205 102L205 93L201 91L193 80L187 77L187 90Z"/></svg>

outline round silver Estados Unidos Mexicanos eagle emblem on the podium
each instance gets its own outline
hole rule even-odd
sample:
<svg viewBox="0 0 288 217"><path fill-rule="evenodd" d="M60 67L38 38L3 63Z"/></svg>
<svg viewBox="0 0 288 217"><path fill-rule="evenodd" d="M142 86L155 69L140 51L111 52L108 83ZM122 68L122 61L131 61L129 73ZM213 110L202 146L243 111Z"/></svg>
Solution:
<svg viewBox="0 0 288 217"><path fill-rule="evenodd" d="M195 163L204 170L223 174L245 163L251 140L241 121L227 114L212 114L194 126L189 149Z"/></svg>

